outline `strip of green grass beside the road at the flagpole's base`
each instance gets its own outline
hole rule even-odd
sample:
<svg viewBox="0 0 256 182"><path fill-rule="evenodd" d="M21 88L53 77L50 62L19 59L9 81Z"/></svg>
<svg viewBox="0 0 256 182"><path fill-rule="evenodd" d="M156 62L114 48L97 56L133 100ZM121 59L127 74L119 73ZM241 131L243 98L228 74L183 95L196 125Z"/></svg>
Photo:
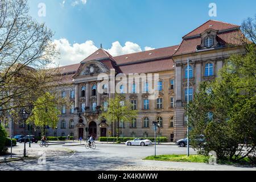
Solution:
<svg viewBox="0 0 256 182"><path fill-rule="evenodd" d="M209 156L204 155L152 155L143 160L162 160L171 162L208 163Z"/></svg>

